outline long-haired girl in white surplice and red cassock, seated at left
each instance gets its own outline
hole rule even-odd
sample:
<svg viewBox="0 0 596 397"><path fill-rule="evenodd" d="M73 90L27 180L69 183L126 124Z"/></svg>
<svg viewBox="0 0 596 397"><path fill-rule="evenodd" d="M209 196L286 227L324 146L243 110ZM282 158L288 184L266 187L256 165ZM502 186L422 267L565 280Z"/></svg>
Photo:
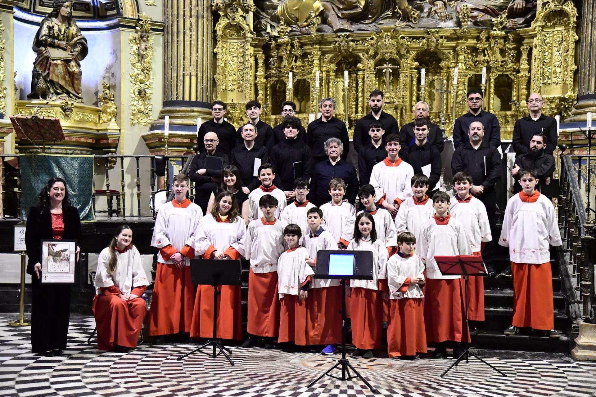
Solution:
<svg viewBox="0 0 596 397"><path fill-rule="evenodd" d="M141 296L148 285L141 254L132 245L131 227L117 227L97 261L93 314L98 349L126 351L136 347L147 314Z"/></svg>

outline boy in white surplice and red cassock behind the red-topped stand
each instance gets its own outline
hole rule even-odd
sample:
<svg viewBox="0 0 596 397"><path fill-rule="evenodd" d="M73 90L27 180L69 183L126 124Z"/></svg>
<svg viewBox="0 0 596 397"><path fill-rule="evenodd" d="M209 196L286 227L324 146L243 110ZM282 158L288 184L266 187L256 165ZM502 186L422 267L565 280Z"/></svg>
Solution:
<svg viewBox="0 0 596 397"><path fill-rule="evenodd" d="M471 255L464 226L449 215L449 195L433 195L434 216L424 223L418 244L418 255L426 264L424 324L426 340L434 343L433 358L446 358L447 343L455 342L454 357L462 354L461 342L469 340L467 324L462 315L461 276L445 276L434 257L437 255Z"/></svg>

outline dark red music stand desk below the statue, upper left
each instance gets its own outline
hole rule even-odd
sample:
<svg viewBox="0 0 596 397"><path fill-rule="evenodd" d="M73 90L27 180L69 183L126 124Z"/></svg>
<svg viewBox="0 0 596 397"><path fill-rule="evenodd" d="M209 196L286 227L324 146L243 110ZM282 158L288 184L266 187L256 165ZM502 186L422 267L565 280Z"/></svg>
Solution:
<svg viewBox="0 0 596 397"><path fill-rule="evenodd" d="M60 120L55 117L10 116L10 122L13 123L18 139L30 140L32 143L34 140L41 140L44 153L45 142L66 139Z"/></svg>

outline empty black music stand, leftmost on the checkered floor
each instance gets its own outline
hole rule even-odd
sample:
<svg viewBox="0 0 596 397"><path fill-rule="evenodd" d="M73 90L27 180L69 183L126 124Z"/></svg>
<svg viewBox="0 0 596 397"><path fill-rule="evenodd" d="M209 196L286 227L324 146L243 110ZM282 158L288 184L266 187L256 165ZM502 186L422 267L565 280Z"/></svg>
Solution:
<svg viewBox="0 0 596 397"><path fill-rule="evenodd" d="M191 260L190 271L193 277L194 285L211 285L213 286L213 337L207 340L206 343L188 352L176 360L180 361L193 353L199 352L211 356L212 358L218 357L223 354L226 360L230 364L234 365L234 361L229 358L232 355L232 351L219 343L218 340L218 295L221 292L218 291L218 287L222 285L242 285L240 268L240 261L232 260ZM203 348L211 346L213 348L212 353L201 351ZM216 351L219 351L216 353ZM226 354L228 352L228 354Z"/></svg>

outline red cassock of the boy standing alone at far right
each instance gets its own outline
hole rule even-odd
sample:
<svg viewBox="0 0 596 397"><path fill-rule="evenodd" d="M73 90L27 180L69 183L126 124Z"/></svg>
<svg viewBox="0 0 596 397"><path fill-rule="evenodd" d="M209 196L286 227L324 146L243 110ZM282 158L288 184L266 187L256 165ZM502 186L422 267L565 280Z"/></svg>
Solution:
<svg viewBox="0 0 596 397"><path fill-rule="evenodd" d="M511 262L513 326L535 330L554 328L551 262Z"/></svg>

